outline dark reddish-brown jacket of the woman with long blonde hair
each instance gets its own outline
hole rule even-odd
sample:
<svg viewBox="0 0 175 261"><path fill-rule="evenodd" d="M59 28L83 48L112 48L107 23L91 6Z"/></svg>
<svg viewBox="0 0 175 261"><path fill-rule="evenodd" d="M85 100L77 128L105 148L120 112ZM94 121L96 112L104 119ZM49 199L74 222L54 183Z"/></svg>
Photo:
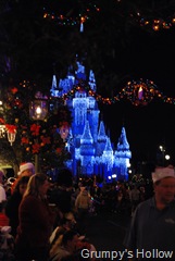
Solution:
<svg viewBox="0 0 175 261"><path fill-rule="evenodd" d="M17 227L17 248L48 247L55 214L47 201L27 196L18 208L20 225Z"/></svg>

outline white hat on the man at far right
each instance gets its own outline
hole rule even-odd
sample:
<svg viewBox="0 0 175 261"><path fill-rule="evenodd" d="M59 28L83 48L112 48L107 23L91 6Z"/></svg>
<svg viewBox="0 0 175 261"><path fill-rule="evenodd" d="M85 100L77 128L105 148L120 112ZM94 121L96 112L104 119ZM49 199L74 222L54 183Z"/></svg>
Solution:
<svg viewBox="0 0 175 261"><path fill-rule="evenodd" d="M175 177L175 171L172 166L157 167L152 173L152 182L155 183L164 177Z"/></svg>

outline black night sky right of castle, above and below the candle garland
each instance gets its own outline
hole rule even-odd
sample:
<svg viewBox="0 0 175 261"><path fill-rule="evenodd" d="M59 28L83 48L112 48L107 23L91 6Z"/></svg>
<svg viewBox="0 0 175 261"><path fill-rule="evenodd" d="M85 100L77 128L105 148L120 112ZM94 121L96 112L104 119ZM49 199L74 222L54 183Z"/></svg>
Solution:
<svg viewBox="0 0 175 261"><path fill-rule="evenodd" d="M130 80L153 80L164 96L175 98L174 33L174 28L151 34L134 32L128 49L118 58L121 72L128 74ZM134 161L154 160L163 145L171 162L175 162L174 104L160 99L145 107L135 107L130 101L100 107L113 142L117 142L124 124Z"/></svg>

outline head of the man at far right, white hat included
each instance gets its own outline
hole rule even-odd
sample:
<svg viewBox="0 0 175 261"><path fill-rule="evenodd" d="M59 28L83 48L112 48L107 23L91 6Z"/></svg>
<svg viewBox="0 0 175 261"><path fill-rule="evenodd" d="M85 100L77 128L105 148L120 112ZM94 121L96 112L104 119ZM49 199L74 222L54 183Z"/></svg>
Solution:
<svg viewBox="0 0 175 261"><path fill-rule="evenodd" d="M162 203L170 203L175 199L175 170L174 167L157 167L152 173L155 199Z"/></svg>

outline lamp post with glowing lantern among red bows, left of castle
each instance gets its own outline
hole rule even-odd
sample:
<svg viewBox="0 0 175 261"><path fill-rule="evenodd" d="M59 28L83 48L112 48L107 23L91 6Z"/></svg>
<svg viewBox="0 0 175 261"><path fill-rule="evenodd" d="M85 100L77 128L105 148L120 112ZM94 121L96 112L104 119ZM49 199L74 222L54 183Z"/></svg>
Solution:
<svg viewBox="0 0 175 261"><path fill-rule="evenodd" d="M36 121L39 126L39 121L43 121L48 115L48 98L43 97L41 92L37 92L35 100L30 101L29 104L29 116L32 120ZM38 137L35 139L35 145L38 145ZM35 153L35 173L40 170L39 165L39 152Z"/></svg>

